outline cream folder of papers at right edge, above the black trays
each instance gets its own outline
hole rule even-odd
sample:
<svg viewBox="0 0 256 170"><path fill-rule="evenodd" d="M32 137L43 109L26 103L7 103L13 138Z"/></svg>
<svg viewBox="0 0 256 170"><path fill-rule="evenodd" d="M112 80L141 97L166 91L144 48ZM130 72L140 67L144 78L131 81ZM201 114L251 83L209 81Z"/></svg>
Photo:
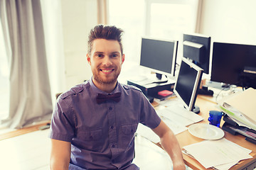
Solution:
<svg viewBox="0 0 256 170"><path fill-rule="evenodd" d="M249 88L219 102L220 110L238 123L256 130L256 90Z"/></svg>

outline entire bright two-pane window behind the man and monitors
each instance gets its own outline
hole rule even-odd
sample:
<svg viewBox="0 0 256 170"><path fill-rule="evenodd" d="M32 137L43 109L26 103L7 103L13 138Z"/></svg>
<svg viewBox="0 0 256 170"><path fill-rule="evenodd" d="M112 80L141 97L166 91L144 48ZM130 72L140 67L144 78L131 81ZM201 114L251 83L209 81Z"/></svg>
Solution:
<svg viewBox="0 0 256 170"><path fill-rule="evenodd" d="M198 0L109 0L109 21L125 31L126 60L139 63L142 36L181 42L195 32L197 10Z"/></svg>

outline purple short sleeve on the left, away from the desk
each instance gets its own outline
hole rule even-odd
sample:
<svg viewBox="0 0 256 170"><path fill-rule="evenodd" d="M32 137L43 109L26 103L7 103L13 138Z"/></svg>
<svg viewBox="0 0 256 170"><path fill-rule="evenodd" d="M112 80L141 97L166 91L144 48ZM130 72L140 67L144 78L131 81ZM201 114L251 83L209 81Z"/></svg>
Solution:
<svg viewBox="0 0 256 170"><path fill-rule="evenodd" d="M73 109L63 98L59 98L53 111L50 123L50 135L53 140L71 142L74 137Z"/></svg>

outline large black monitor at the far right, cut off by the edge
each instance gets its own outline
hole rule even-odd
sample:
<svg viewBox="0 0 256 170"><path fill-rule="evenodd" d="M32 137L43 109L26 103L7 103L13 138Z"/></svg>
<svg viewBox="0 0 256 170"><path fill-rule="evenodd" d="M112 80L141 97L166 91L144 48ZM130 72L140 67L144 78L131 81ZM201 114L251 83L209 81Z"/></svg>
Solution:
<svg viewBox="0 0 256 170"><path fill-rule="evenodd" d="M210 80L256 88L256 45L213 42Z"/></svg>

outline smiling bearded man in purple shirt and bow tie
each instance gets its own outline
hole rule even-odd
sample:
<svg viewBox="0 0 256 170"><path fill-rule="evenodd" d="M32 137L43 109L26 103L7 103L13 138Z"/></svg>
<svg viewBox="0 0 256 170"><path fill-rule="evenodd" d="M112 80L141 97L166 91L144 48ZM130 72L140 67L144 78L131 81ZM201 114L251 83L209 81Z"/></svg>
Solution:
<svg viewBox="0 0 256 170"><path fill-rule="evenodd" d="M91 30L87 62L92 79L58 98L50 128L51 169L139 169L132 164L138 123L159 135L174 169L185 169L174 133L142 91L117 81L125 58L121 36L114 26Z"/></svg>

